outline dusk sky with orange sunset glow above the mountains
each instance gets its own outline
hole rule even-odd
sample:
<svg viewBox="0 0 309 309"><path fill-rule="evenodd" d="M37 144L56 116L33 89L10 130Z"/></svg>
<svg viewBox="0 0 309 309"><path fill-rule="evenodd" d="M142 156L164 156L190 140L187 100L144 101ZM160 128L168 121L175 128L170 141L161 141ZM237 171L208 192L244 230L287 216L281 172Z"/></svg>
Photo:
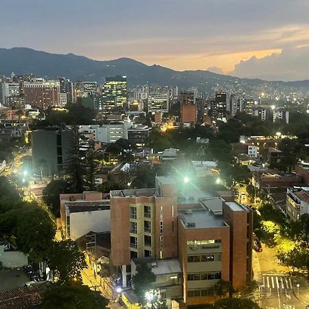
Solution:
<svg viewBox="0 0 309 309"><path fill-rule="evenodd" d="M308 0L0 0L1 46L309 79ZM1 59L0 59L1 61Z"/></svg>

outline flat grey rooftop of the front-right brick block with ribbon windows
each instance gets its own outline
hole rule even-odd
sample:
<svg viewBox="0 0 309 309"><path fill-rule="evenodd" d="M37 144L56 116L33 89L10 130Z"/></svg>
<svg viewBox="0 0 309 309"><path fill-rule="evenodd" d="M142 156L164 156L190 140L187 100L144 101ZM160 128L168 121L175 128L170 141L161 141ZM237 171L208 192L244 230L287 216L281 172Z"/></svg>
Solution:
<svg viewBox="0 0 309 309"><path fill-rule="evenodd" d="M179 218L185 229L227 227L222 216L214 216L206 209L179 209Z"/></svg>

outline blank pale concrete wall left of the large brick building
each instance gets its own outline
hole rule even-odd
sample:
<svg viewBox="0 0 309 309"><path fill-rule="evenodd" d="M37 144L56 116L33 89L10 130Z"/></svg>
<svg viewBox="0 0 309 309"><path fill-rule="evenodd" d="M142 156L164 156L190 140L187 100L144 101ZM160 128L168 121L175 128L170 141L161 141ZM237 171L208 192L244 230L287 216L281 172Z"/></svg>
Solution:
<svg viewBox="0 0 309 309"><path fill-rule="evenodd" d="M97 233L111 231L110 210L85 211L70 214L70 236L72 240L89 231Z"/></svg>

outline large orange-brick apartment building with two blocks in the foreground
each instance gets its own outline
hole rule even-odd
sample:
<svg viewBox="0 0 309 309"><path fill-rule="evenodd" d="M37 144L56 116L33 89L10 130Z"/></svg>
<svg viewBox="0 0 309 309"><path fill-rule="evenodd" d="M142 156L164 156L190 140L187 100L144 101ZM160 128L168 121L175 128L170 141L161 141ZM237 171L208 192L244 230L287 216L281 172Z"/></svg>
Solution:
<svg viewBox="0 0 309 309"><path fill-rule="evenodd" d="M111 191L111 262L130 280L131 259L178 258L186 305L214 301L220 279L251 281L252 213L172 177L154 189Z"/></svg>

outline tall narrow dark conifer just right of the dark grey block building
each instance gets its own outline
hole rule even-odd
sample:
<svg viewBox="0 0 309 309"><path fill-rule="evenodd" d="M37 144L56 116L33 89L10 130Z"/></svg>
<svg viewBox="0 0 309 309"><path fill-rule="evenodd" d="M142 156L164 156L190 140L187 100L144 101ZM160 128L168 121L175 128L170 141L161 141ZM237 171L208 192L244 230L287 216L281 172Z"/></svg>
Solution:
<svg viewBox="0 0 309 309"><path fill-rule="evenodd" d="M68 153L68 159L65 162L65 173L69 177L70 189L75 193L84 191L84 166L80 152L80 135L78 127L73 127L73 137L71 147Z"/></svg>

